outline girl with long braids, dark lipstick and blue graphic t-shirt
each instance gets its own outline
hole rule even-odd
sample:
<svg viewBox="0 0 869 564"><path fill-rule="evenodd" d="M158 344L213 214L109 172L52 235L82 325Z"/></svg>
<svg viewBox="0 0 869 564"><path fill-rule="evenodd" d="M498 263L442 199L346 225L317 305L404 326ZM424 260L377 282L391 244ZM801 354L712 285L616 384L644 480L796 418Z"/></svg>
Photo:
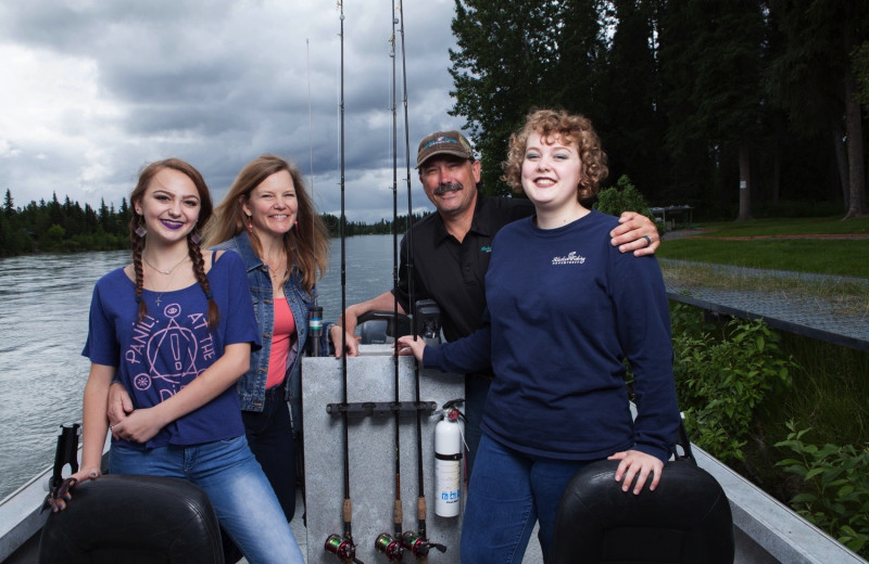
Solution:
<svg viewBox="0 0 869 564"><path fill-rule="evenodd" d="M178 159L147 166L130 195L133 264L93 290L77 482L100 476L113 381L136 408L113 425L110 470L186 478L209 495L224 530L251 563L304 559L248 447L232 384L260 346L244 265L202 253L212 214L202 176ZM65 507L71 495L54 502Z"/></svg>

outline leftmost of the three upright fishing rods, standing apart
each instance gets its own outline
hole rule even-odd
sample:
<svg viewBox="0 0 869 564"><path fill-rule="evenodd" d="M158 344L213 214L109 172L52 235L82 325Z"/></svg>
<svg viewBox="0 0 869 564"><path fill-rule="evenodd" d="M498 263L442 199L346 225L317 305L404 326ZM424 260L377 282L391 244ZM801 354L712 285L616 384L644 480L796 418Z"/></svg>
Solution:
<svg viewBox="0 0 869 564"><path fill-rule="evenodd" d="M344 4L343 0L338 0L338 9L340 11L341 21L341 79L340 79L340 93L339 93L339 153L341 161L341 221L340 221L340 235L341 235L341 311L347 311L347 249L345 249L345 225L347 215L344 207ZM347 393L347 332L341 331L341 401L344 408L348 405ZM349 423L347 409L341 410L341 423L343 431L344 441L344 502L342 505L342 518L344 522L343 536L336 533L329 535L326 539L325 549L331 552L341 562L353 562L355 564L363 564L361 560L356 559L356 544L353 542L353 503L350 500L350 437L349 437Z"/></svg>

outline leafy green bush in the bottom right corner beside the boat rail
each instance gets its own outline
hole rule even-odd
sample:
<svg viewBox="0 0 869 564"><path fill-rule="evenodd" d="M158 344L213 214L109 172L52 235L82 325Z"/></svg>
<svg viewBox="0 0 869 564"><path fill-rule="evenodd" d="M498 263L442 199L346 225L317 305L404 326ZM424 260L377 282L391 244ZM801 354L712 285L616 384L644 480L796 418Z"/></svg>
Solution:
<svg viewBox="0 0 869 564"><path fill-rule="evenodd" d="M791 433L777 447L797 458L777 463L803 479L803 491L791 499L793 508L862 556L869 556L869 448L827 444L821 448L803 443L808 428Z"/></svg>

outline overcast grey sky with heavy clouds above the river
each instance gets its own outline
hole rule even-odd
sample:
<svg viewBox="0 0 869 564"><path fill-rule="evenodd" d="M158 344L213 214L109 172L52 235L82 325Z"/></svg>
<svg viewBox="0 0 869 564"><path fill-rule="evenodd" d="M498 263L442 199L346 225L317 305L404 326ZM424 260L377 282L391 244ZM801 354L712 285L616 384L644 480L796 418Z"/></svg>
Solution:
<svg viewBox="0 0 869 564"><path fill-rule="evenodd" d="M375 221L392 215L392 0L343 10L347 215ZM453 12L453 0L404 8L411 167L421 137L464 125L446 114ZM176 156L216 204L269 152L294 161L318 208L338 215L339 30L335 0L2 1L0 190L20 207L52 192L118 206L144 164ZM401 87L401 43L396 53ZM406 211L401 89L398 102ZM414 207L430 208L411 176Z"/></svg>

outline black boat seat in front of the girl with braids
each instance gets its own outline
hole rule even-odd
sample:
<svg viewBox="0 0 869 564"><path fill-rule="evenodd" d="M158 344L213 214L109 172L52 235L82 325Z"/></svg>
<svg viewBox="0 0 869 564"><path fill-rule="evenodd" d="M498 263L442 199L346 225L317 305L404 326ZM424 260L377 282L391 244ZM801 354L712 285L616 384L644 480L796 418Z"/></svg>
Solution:
<svg viewBox="0 0 869 564"><path fill-rule="evenodd" d="M224 562L211 501L189 482L105 475L72 495L42 528L40 564Z"/></svg>

